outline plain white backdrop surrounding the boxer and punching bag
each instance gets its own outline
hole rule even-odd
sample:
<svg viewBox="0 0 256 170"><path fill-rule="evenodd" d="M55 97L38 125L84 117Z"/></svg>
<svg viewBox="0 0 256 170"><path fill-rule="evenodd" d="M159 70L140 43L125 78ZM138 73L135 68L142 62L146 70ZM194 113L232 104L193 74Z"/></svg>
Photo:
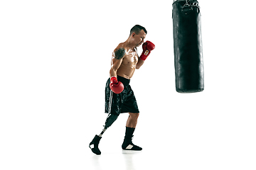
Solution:
<svg viewBox="0 0 256 170"><path fill-rule="evenodd" d="M196 94L175 90L171 4L1 1L0 169L256 169L255 1L199 1ZM122 114L95 156L112 50L135 24L156 45L131 81L143 151L121 151Z"/></svg>

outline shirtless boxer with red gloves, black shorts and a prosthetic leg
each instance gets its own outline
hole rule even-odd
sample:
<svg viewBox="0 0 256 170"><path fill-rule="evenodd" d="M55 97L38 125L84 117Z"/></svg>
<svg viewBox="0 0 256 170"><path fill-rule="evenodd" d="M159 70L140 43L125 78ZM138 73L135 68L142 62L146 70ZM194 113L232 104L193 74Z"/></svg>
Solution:
<svg viewBox="0 0 256 170"><path fill-rule="evenodd" d="M142 150L141 147L132 143L133 133L139 117L139 108L129 81L135 69L139 69L151 50L154 50L154 44L150 41L144 42L145 38L146 29L136 25L131 29L129 38L120 43L112 53L110 79L107 80L105 88L105 113L109 115L105 122L105 128L100 135L95 135L89 145L95 154L101 154L98 145L102 135L117 120L120 113L129 113L122 149ZM143 42L144 44L142 45ZM142 45L143 48L140 57L137 54L139 45Z"/></svg>

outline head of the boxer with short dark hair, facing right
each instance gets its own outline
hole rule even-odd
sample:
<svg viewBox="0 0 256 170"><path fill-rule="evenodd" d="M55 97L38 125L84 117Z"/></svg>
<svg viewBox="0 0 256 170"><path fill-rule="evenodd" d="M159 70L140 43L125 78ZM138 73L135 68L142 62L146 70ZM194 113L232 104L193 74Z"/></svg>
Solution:
<svg viewBox="0 0 256 170"><path fill-rule="evenodd" d="M146 38L146 33L146 28L136 25L130 30L129 37L132 37L135 45L139 47L139 45L142 45L142 43L144 42L144 39Z"/></svg>

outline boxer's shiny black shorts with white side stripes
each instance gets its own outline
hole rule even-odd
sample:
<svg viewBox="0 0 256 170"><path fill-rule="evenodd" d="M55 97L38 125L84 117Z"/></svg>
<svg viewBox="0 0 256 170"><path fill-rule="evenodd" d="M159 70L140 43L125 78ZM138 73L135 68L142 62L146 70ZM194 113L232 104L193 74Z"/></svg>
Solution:
<svg viewBox="0 0 256 170"><path fill-rule="evenodd" d="M120 113L139 113L137 101L129 85L130 80L117 76L117 81L124 84L124 90L120 94L114 94L110 89L110 79L105 88L105 113L119 115Z"/></svg>

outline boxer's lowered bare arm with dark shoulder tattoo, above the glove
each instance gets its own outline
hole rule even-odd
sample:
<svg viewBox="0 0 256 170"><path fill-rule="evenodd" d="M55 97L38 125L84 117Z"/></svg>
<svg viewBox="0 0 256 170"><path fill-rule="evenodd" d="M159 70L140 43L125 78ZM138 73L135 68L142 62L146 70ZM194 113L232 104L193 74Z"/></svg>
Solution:
<svg viewBox="0 0 256 170"><path fill-rule="evenodd" d="M122 64L123 57L125 55L125 50L123 47L117 47L112 53L110 77L117 77L117 69L119 69Z"/></svg>

